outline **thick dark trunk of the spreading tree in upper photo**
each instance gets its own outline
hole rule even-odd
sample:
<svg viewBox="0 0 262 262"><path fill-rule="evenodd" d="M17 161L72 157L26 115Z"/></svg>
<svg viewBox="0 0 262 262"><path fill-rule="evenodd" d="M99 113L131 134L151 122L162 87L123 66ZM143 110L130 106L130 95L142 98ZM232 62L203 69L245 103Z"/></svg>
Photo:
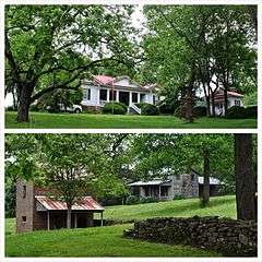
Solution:
<svg viewBox="0 0 262 262"><path fill-rule="evenodd" d="M29 105L31 105L32 92L29 86L23 86L17 100L17 121L28 122L29 121Z"/></svg>

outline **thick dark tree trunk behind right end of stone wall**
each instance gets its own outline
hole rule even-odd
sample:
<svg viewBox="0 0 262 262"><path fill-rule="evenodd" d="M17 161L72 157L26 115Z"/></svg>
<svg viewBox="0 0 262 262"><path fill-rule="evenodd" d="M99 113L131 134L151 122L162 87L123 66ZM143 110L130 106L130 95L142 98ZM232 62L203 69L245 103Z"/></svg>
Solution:
<svg viewBox="0 0 262 262"><path fill-rule="evenodd" d="M252 134L235 134L237 218L257 221Z"/></svg>

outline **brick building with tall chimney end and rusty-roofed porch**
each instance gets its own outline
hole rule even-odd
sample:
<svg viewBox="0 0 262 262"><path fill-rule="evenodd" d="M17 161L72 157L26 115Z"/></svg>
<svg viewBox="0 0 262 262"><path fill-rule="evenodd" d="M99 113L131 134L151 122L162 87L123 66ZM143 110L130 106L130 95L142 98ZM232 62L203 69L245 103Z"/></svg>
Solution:
<svg viewBox="0 0 262 262"><path fill-rule="evenodd" d="M82 198L72 207L71 227L93 226L94 213L104 207L92 196ZM67 227L67 204L50 196L50 191L37 188L33 182L16 182L16 231L49 230Z"/></svg>

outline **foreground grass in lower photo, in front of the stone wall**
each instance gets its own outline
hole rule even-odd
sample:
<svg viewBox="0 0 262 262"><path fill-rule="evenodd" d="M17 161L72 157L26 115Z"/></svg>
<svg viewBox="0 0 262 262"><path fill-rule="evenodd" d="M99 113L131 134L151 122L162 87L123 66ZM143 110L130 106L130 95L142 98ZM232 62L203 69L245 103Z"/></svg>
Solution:
<svg viewBox="0 0 262 262"><path fill-rule="evenodd" d="M9 219L8 219L9 221ZM10 224L10 222L8 222ZM9 225L10 226L10 225ZM9 235L7 257L219 257L203 249L122 237L131 225Z"/></svg>

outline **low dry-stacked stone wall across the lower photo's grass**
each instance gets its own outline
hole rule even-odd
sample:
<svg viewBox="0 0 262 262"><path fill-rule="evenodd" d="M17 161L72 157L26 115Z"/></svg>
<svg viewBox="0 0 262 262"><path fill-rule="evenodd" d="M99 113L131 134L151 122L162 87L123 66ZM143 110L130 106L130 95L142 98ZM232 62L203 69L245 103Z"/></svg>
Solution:
<svg viewBox="0 0 262 262"><path fill-rule="evenodd" d="M189 245L216 250L228 257L257 257L258 225L218 217L150 218L134 223L126 237L148 241Z"/></svg>

